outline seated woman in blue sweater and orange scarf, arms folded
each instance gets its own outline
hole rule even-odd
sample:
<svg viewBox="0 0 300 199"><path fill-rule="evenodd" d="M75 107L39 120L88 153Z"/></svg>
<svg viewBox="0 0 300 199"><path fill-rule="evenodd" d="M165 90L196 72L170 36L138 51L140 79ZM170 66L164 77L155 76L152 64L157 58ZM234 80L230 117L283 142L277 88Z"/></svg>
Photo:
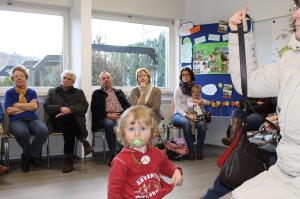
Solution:
<svg viewBox="0 0 300 199"><path fill-rule="evenodd" d="M36 114L39 101L36 92L27 87L27 69L23 65L16 65L12 68L10 77L15 86L5 93L4 106L9 115L8 128L23 149L21 167L23 172L28 172L30 162L39 166L39 156L48 137L48 128ZM34 135L34 139L30 144L31 134Z"/></svg>

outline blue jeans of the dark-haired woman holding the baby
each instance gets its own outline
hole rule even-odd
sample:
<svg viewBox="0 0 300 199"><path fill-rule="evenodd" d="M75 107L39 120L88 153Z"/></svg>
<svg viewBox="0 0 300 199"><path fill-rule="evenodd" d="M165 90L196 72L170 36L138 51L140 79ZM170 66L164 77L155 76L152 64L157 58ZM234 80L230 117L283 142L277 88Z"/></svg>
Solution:
<svg viewBox="0 0 300 199"><path fill-rule="evenodd" d="M178 126L182 128L184 139L187 143L189 151L195 151L195 145L192 136L192 125L190 121L187 118L180 115L179 113L175 113L173 115L172 122L174 126ZM206 137L205 122L203 121L196 122L195 128L197 129L196 151L203 153L204 141Z"/></svg>

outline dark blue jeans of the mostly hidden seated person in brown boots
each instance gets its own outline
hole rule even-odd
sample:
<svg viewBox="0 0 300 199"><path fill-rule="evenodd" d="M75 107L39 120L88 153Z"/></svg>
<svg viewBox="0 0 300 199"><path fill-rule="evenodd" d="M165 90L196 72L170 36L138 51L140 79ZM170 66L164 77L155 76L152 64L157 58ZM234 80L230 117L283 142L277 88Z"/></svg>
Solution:
<svg viewBox="0 0 300 199"><path fill-rule="evenodd" d="M241 109L234 109L231 118L242 119L245 112ZM259 127L265 122L263 117L257 113L247 113L247 131L257 131Z"/></svg>

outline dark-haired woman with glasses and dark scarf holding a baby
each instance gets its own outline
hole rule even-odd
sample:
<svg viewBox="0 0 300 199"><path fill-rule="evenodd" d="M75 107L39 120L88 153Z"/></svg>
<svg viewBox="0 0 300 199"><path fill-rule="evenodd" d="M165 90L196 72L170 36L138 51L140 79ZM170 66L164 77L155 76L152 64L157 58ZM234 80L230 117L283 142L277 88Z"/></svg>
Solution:
<svg viewBox="0 0 300 199"><path fill-rule="evenodd" d="M195 76L190 68L183 68L180 72L180 83L174 91L175 110L172 118L174 126L181 127L183 130L184 139L188 145L189 158L195 160L203 159L204 140L206 137L206 126L204 121L200 121L194 114L188 114L189 107L187 99L191 97L191 89L195 85ZM192 125L190 121L195 122L197 129L197 143L194 145L192 136Z"/></svg>

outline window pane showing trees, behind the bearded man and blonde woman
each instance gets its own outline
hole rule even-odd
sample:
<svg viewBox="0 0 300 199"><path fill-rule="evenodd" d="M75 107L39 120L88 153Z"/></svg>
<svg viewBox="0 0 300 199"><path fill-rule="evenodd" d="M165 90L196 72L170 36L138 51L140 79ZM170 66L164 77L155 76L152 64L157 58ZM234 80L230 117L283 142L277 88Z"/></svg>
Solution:
<svg viewBox="0 0 300 199"><path fill-rule="evenodd" d="M92 20L92 85L108 71L114 86L136 86L135 71L145 67L155 86L167 86L169 28L119 21Z"/></svg>

